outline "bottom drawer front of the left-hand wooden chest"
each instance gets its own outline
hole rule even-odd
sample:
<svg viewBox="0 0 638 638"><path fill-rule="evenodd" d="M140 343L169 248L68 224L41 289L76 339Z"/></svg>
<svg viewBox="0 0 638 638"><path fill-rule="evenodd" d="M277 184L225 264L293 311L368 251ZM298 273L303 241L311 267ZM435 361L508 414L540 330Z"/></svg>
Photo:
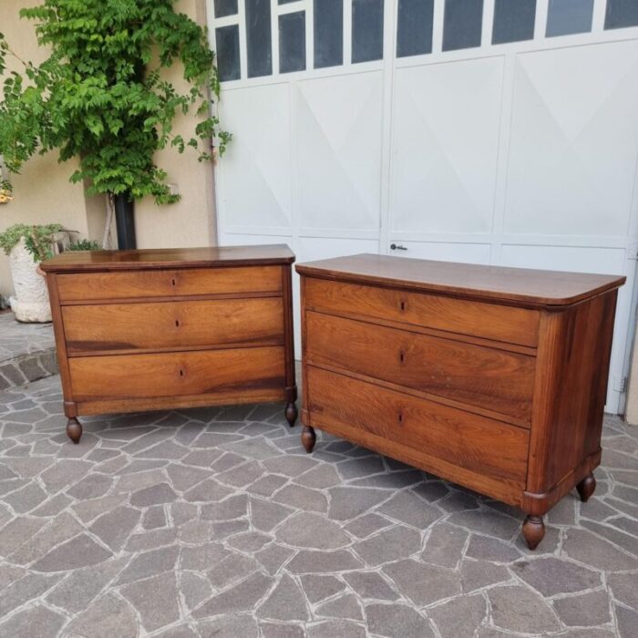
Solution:
<svg viewBox="0 0 638 638"><path fill-rule="evenodd" d="M198 396L283 388L283 347L74 357L74 401Z"/></svg>

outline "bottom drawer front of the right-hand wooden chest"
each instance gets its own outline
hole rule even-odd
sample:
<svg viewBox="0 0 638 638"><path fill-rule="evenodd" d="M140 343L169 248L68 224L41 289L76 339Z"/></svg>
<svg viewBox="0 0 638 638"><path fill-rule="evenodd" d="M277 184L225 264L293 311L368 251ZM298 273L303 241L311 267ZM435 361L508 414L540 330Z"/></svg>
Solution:
<svg viewBox="0 0 638 638"><path fill-rule="evenodd" d="M444 478L464 482L459 479L463 472L455 469L461 468L523 489L528 430L312 365L307 370L314 427L345 438L350 434L390 457L410 457L415 465L441 472ZM437 466L437 460L445 467Z"/></svg>

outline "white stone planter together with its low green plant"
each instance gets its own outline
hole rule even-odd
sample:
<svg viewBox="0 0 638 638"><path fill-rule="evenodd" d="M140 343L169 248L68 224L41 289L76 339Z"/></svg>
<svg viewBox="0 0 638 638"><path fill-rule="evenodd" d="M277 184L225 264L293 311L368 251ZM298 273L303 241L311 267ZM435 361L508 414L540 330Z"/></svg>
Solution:
<svg viewBox="0 0 638 638"><path fill-rule="evenodd" d="M51 307L40 262L59 252L67 232L61 224L27 226L17 223L0 232L0 248L9 255L15 296L9 299L15 319L27 324L51 321Z"/></svg>

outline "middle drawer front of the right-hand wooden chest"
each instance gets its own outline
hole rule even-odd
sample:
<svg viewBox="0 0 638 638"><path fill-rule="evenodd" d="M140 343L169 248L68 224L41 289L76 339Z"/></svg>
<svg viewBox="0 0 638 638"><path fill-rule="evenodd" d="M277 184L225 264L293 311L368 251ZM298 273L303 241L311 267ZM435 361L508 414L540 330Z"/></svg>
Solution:
<svg viewBox="0 0 638 638"><path fill-rule="evenodd" d="M306 313L306 356L311 365L444 396L529 427L534 356L313 312Z"/></svg>

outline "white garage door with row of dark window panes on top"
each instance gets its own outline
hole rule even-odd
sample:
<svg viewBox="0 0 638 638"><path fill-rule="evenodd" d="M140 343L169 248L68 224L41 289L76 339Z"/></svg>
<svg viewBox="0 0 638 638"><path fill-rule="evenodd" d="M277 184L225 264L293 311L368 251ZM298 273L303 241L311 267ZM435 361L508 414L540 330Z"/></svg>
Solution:
<svg viewBox="0 0 638 638"><path fill-rule="evenodd" d="M623 408L636 0L214 0L209 15L234 134L221 244L625 274L607 400Z"/></svg>

